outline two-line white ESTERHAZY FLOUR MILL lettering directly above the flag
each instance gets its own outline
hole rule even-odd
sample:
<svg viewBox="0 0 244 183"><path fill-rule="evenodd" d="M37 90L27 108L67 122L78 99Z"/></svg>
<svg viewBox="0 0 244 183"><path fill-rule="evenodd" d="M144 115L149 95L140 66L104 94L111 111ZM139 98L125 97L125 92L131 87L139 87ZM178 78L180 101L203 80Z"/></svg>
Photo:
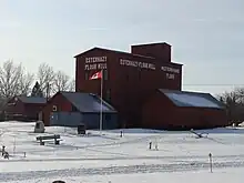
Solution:
<svg viewBox="0 0 244 183"><path fill-rule="evenodd" d="M106 69L106 57L85 58L84 70Z"/></svg>

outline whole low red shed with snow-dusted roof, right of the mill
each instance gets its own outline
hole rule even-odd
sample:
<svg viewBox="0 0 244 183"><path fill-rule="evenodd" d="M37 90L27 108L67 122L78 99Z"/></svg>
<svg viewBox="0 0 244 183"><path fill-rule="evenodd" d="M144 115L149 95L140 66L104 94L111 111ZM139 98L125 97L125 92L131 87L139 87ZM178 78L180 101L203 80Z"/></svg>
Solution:
<svg viewBox="0 0 244 183"><path fill-rule="evenodd" d="M224 105L210 93L156 90L142 108L144 128L166 130L226 126Z"/></svg>

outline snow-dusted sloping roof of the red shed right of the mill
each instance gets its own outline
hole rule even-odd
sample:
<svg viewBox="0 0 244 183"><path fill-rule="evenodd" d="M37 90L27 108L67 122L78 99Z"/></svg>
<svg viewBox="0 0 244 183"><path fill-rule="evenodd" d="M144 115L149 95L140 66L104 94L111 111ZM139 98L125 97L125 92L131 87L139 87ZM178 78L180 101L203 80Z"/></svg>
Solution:
<svg viewBox="0 0 244 183"><path fill-rule="evenodd" d="M186 92L160 89L177 106L215 108L224 109L224 105L210 93Z"/></svg>

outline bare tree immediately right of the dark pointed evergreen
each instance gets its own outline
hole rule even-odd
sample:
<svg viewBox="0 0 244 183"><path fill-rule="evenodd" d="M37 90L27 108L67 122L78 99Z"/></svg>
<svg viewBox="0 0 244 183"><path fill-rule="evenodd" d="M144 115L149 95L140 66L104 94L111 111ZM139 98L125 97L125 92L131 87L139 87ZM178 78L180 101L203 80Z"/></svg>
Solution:
<svg viewBox="0 0 244 183"><path fill-rule="evenodd" d="M38 69L37 79L39 81L40 88L45 96L50 95L50 87L54 82L55 73L53 68L47 63L41 63Z"/></svg>

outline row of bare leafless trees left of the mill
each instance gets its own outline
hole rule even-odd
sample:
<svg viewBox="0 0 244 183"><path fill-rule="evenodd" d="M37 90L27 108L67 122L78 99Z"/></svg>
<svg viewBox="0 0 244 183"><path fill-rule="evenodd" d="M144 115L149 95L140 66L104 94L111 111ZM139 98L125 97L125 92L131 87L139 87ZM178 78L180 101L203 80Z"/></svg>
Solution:
<svg viewBox="0 0 244 183"><path fill-rule="evenodd" d="M63 71L55 71L48 63L41 63L37 73L11 60L0 67L0 99L2 101L16 95L31 95L34 88L40 95L49 98L58 91L74 91L75 82ZM37 90L37 89L35 89Z"/></svg>

